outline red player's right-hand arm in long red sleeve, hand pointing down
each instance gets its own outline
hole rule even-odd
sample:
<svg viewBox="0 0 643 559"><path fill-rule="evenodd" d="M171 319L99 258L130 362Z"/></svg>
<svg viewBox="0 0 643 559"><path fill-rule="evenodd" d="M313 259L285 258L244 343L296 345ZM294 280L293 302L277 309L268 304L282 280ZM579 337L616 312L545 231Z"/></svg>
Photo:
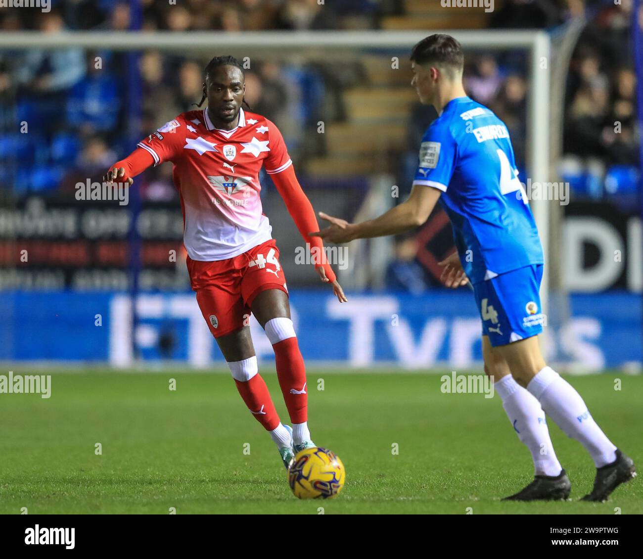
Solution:
<svg viewBox="0 0 643 559"><path fill-rule="evenodd" d="M318 228L315 212L312 209L311 201L303 192L299 181L297 180L293 165L287 169L271 174L271 178L275 183L277 192L284 199L285 206L288 213L297 226L303 240L306 241L311 247L311 253L318 256L318 261L315 262L315 269L320 275L323 282L331 282L333 291L340 302L346 302L347 298L338 283L331 265L326 259L326 253L323 250L323 241L318 237L312 237L310 232Z"/></svg>

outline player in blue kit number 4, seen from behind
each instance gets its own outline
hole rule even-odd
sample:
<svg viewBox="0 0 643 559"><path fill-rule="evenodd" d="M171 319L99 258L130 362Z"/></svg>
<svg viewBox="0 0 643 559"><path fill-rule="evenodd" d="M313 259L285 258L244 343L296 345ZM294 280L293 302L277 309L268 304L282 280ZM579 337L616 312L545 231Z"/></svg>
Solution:
<svg viewBox="0 0 643 559"><path fill-rule="evenodd" d="M635 466L541 354L543 250L507 127L465 93L464 55L453 37L426 37L413 47L411 63L412 86L439 116L422 138L410 196L362 223L320 212L331 225L316 235L331 243L348 243L399 234L422 225L439 201L451 220L457 247L440 262L442 281L450 288L473 286L482 318L485 372L493 378L509 421L534 462L534 481L505 499L554 500L570 494L570 481L549 436L547 414L584 446L597 468L593 489L583 500L606 500L617 486L635 477Z"/></svg>

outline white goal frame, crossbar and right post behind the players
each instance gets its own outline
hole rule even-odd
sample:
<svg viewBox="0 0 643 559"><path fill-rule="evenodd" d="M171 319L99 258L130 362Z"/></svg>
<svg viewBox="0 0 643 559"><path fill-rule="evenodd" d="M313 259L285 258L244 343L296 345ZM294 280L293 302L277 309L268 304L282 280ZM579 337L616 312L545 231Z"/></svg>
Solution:
<svg viewBox="0 0 643 559"><path fill-rule="evenodd" d="M417 30L417 31L320 31L320 32L17 32L0 34L0 51L78 47L106 50L243 51L266 55L281 51L327 57L350 49L408 49L433 32L453 35L467 50L523 49L529 53L527 95L527 168L532 182L545 183L550 175L550 38L543 31L513 30ZM521 181L526 182L521 177ZM530 201L545 250L549 244L550 219L543 200ZM541 306L547 313L548 279L543 276Z"/></svg>

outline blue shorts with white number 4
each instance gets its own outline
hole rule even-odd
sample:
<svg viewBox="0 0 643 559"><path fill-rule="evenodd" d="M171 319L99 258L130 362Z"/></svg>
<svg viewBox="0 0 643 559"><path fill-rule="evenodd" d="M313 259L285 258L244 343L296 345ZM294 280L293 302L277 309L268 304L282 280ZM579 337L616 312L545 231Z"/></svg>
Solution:
<svg viewBox="0 0 643 559"><path fill-rule="evenodd" d="M543 264L532 264L473 284L482 335L493 347L536 336L543 331L540 308Z"/></svg>

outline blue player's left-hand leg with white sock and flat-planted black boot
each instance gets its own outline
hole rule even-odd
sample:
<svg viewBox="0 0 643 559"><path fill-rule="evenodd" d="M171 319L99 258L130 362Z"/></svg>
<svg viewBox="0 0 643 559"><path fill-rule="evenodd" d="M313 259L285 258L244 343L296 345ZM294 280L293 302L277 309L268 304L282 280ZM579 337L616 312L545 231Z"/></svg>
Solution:
<svg viewBox="0 0 643 559"><path fill-rule="evenodd" d="M502 354L491 347L489 336L482 336L485 373L494 380L494 388L502 399L502 407L518 439L529 448L534 463L534 481L509 500L566 499L570 482L556 458L549 436L545 412L528 390L514 380Z"/></svg>

